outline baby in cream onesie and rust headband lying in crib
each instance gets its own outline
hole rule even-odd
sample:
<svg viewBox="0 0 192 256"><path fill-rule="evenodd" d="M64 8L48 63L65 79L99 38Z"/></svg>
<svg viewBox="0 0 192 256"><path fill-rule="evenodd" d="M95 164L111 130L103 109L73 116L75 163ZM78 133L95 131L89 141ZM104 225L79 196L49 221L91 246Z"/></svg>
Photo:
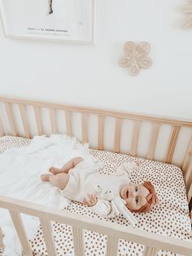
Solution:
<svg viewBox="0 0 192 256"><path fill-rule="evenodd" d="M127 169L136 170L141 163L135 161L127 165ZM130 211L146 212L158 204L155 188L150 182L143 184L129 183L129 175L99 174L97 164L90 164L81 157L68 161L61 169L50 167L51 174L42 174L42 182L50 182L60 190L63 196L72 201L81 202L103 217L114 217L115 210L111 201L100 199L98 192L107 188L115 196L120 196Z"/></svg>

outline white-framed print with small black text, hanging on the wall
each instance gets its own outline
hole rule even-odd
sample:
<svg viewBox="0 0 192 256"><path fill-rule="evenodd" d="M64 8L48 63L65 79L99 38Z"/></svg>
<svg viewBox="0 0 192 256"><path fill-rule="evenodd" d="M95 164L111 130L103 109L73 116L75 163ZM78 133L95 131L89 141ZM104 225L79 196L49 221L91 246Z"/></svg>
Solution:
<svg viewBox="0 0 192 256"><path fill-rule="evenodd" d="M96 0L0 0L7 38L95 42Z"/></svg>

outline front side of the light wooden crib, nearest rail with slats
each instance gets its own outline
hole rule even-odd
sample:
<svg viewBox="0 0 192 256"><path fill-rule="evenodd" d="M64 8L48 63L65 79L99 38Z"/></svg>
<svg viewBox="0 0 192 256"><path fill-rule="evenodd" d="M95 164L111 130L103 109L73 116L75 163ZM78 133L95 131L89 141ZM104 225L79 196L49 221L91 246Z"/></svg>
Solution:
<svg viewBox="0 0 192 256"><path fill-rule="evenodd" d="M43 236L46 241L46 249L48 255L55 255L55 241L53 239L53 231L50 225L51 221L65 223L73 227L73 241L75 241L76 255L83 255L82 247L83 237L82 230L86 229L93 232L107 235L107 255L116 255L118 248L118 241L120 239L125 241L132 241L137 244L145 245L144 255L155 255L158 249L171 251L172 253L191 255L192 244L190 241L181 241L172 239L168 236L161 236L155 233L145 232L134 227L124 227L116 223L104 222L94 218L87 218L83 215L72 214L68 210L54 210L42 205L29 203L27 201L20 201L11 199L10 197L0 196L0 207L11 212L15 219L15 229L18 230L22 237L20 241L25 241L23 223L18 218L20 213L29 214L40 218ZM22 228L18 227L17 220L20 220ZM22 235L21 235L22 234ZM21 243L23 245L23 243ZM27 243L28 244L28 243ZM25 251L30 249L25 246ZM30 254L28 254L30 255Z"/></svg>

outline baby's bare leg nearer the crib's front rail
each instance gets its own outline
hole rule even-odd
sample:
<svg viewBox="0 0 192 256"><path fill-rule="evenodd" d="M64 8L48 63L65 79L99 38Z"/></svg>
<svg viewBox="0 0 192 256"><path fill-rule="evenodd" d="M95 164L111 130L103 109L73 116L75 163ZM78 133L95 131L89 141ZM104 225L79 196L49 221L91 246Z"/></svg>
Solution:
<svg viewBox="0 0 192 256"><path fill-rule="evenodd" d="M63 190L68 184L69 177L69 174L42 174L41 181L50 182L55 187Z"/></svg>

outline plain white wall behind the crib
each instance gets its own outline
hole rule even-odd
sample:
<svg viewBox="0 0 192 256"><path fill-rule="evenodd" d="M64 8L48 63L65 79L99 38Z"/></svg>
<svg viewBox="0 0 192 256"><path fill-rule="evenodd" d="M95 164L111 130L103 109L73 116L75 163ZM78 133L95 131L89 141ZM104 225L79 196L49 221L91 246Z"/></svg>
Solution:
<svg viewBox="0 0 192 256"><path fill-rule="evenodd" d="M97 0L94 46L4 38L0 94L192 118L192 29L186 0ZM118 62L125 41L151 44L151 68L131 77Z"/></svg>

